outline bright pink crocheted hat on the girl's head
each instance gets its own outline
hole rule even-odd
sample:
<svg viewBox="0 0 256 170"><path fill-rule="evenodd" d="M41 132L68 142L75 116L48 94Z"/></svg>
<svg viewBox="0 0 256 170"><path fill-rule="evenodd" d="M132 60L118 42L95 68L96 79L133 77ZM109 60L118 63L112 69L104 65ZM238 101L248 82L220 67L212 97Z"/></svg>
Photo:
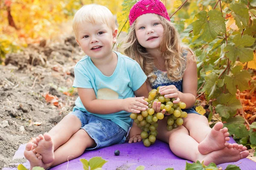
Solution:
<svg viewBox="0 0 256 170"><path fill-rule="evenodd" d="M158 14L170 21L167 9L160 0L140 0L131 8L129 14L130 26L137 17L148 13Z"/></svg>

